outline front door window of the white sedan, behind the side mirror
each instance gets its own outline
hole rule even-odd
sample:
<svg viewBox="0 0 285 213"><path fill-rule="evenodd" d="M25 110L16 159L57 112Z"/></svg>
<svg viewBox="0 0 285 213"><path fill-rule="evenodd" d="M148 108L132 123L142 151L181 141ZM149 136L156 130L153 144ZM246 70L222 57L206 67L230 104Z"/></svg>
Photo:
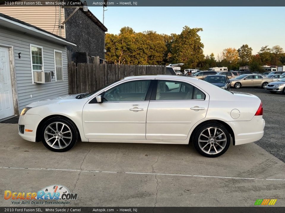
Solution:
<svg viewBox="0 0 285 213"><path fill-rule="evenodd" d="M122 83L104 93L103 102L144 101L151 80L137 80Z"/></svg>

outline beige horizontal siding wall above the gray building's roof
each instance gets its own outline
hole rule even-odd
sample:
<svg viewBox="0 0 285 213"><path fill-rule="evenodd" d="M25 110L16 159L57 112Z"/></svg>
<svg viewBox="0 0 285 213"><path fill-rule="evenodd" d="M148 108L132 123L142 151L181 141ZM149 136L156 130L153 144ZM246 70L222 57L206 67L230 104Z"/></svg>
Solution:
<svg viewBox="0 0 285 213"><path fill-rule="evenodd" d="M21 1L17 1L21 2ZM50 33L59 35L59 7L0 7L0 13L27 22ZM64 9L61 8L61 23L64 22ZM65 38L65 29L61 29Z"/></svg>

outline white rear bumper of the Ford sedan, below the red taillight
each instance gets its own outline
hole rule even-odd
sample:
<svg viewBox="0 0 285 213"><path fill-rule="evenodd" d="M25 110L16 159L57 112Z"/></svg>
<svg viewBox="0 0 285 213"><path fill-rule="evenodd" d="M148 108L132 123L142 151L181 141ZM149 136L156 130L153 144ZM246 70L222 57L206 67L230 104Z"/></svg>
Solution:
<svg viewBox="0 0 285 213"><path fill-rule="evenodd" d="M250 121L226 122L235 134L235 145L258 141L263 137L265 121L262 116L254 116Z"/></svg>

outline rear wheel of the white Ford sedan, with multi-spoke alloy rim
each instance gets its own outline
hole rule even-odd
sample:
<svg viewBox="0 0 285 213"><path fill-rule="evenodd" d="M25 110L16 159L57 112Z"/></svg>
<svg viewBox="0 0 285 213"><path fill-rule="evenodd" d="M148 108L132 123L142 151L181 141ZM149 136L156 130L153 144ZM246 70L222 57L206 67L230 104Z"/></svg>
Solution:
<svg viewBox="0 0 285 213"><path fill-rule="evenodd" d="M208 129L210 129L210 134ZM219 140L216 139L216 136L219 136ZM195 149L206 157L221 156L227 151L231 142L229 131L219 123L200 126L195 131L193 139Z"/></svg>

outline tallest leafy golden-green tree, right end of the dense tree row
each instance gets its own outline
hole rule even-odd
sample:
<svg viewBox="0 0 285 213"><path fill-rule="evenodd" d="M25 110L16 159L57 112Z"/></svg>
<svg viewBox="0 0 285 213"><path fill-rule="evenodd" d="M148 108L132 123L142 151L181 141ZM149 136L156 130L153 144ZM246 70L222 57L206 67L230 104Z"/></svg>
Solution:
<svg viewBox="0 0 285 213"><path fill-rule="evenodd" d="M172 43L172 62L184 63L186 68L197 67L204 60L204 44L198 32L202 28L183 27L180 35L175 36Z"/></svg>

